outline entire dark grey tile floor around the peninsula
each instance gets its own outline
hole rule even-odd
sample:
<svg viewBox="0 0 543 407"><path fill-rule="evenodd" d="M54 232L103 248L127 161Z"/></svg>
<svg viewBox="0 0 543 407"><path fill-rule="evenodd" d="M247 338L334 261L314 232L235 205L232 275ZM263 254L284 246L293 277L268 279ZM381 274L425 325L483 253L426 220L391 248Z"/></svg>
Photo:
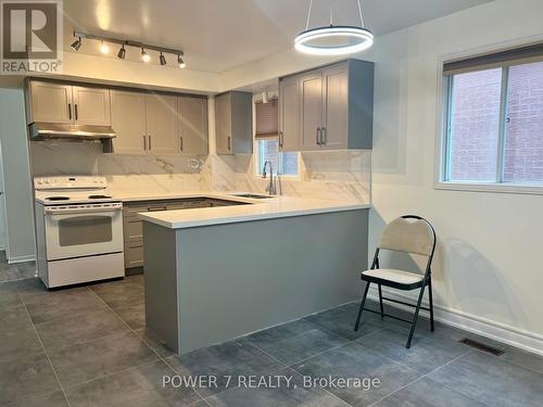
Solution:
<svg viewBox="0 0 543 407"><path fill-rule="evenodd" d="M432 333L426 320L406 349L407 328L392 319L365 315L353 332L356 310L357 304L343 305L179 358L146 331L143 276L55 292L37 279L0 283L0 405L543 404L542 357L442 325ZM505 353L475 351L458 342L464 336ZM163 377L174 374L213 374L217 385L164 387ZM268 385L249 389L240 376ZM275 387L272 380L282 377L289 385ZM328 377L380 383L307 385Z"/></svg>

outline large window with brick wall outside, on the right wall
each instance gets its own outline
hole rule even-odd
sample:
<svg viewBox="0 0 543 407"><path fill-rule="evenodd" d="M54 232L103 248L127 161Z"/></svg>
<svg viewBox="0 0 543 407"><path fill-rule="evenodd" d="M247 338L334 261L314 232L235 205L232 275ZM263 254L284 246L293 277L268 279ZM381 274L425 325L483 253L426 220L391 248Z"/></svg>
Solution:
<svg viewBox="0 0 543 407"><path fill-rule="evenodd" d="M438 188L543 193L543 44L447 62L443 74Z"/></svg>

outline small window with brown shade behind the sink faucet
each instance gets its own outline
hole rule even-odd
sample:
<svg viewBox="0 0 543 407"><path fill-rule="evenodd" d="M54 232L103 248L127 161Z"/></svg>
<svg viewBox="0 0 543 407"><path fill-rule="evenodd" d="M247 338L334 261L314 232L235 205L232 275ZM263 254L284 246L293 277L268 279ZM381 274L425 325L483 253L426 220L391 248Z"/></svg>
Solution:
<svg viewBox="0 0 543 407"><path fill-rule="evenodd" d="M255 103L255 173L262 175L264 163L269 161L275 175L298 177L299 154L279 151L279 109L278 100L270 99L267 103Z"/></svg>

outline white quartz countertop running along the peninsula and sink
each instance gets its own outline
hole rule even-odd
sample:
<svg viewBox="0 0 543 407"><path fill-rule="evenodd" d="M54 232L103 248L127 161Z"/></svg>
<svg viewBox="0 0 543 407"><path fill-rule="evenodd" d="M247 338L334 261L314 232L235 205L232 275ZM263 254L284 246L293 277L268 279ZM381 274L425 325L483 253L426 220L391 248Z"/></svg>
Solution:
<svg viewBox="0 0 543 407"><path fill-rule="evenodd" d="M250 205L203 207L194 209L161 211L140 213L139 216L171 229L193 228L199 226L233 224L270 218L303 216L330 212L369 208L370 205L354 201L331 201L294 196L274 196L272 199L247 199L228 193L176 194L171 198L207 196L213 199L240 201ZM132 201L141 201L142 198ZM126 200L125 200L126 201Z"/></svg>

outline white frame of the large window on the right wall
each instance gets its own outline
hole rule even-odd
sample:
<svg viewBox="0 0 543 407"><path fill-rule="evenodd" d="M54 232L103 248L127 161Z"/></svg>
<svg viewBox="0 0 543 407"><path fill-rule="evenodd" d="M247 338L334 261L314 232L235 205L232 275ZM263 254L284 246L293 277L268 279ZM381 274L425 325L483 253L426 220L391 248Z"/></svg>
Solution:
<svg viewBox="0 0 543 407"><path fill-rule="evenodd" d="M530 41L541 41L543 36L530 39ZM528 42L530 42L528 41ZM516 193L516 194L539 194L543 195L543 181L542 182L503 182L503 156L497 161L497 178L496 182L479 182L479 181L450 181L445 177L447 175L447 153L450 149L450 129L449 129L449 117L451 106L451 92L452 77L446 77L443 75L443 65L446 61L468 59L477 54L500 52L504 48L516 48L526 44L525 41L512 41L501 43L500 46L492 46L483 49L471 50L469 52L457 53L452 55L443 55L438 61L438 109L437 109L437 135L438 140L435 143L435 163L434 163L434 180L433 188L435 190L452 190L452 191L470 191L470 192L494 192L494 193ZM505 76L505 78L504 78ZM501 101L501 118L504 117L504 112L506 109L506 97L507 97L507 80L508 80L508 68L504 67L502 71L502 101ZM505 80L505 81L504 81ZM505 140L505 120L500 125L498 135L498 153L502 152L503 155L503 143Z"/></svg>

